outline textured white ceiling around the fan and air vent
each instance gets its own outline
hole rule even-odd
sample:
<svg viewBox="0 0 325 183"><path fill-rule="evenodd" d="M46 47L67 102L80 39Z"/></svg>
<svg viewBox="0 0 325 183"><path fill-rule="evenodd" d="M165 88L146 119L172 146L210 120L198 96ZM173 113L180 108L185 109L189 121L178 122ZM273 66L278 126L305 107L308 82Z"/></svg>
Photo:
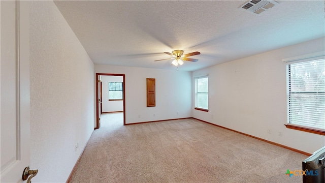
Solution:
<svg viewBox="0 0 325 183"><path fill-rule="evenodd" d="M55 1L94 64L175 70L164 52L199 51L194 71L324 36L324 1Z"/></svg>

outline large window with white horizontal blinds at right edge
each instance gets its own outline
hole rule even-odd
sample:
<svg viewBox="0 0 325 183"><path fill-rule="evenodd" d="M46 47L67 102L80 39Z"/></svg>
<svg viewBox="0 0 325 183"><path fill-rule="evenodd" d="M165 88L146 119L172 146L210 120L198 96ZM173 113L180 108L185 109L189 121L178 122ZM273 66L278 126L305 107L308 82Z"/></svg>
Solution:
<svg viewBox="0 0 325 183"><path fill-rule="evenodd" d="M287 124L325 131L325 59L287 64Z"/></svg>

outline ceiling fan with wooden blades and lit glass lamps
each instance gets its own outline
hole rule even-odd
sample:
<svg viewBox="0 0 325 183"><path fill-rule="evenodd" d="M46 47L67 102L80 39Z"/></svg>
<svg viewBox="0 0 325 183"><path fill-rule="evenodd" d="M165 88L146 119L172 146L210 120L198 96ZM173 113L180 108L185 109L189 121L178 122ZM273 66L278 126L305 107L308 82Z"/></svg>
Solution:
<svg viewBox="0 0 325 183"><path fill-rule="evenodd" d="M174 59L173 62L172 62L172 65L174 65L174 66L180 65L181 66L181 65L184 64L183 60L189 61L189 62L198 62L198 59L187 58L187 56L193 56L193 55L201 54L199 51L183 54L184 53L183 50L174 50L172 53L169 53L169 52L164 52L164 53L169 54L169 55L171 55L173 57L172 58L166 58L166 59L154 60L154 62L161 61L161 60L167 60L167 59Z"/></svg>

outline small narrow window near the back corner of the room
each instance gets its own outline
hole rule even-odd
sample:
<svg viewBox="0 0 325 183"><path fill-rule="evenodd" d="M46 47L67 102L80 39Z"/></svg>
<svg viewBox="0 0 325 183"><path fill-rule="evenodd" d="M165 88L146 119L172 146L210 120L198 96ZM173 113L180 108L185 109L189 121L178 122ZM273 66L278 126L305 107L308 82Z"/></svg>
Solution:
<svg viewBox="0 0 325 183"><path fill-rule="evenodd" d="M208 77L195 79L195 108L208 111Z"/></svg>

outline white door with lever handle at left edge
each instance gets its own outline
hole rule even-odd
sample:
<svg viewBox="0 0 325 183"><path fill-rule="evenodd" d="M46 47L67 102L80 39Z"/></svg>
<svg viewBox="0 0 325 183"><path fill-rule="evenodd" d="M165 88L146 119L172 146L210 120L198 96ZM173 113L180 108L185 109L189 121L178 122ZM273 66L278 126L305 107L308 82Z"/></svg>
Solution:
<svg viewBox="0 0 325 183"><path fill-rule="evenodd" d="M1 182L29 165L29 3L0 1ZM33 167L30 167L33 169Z"/></svg>

